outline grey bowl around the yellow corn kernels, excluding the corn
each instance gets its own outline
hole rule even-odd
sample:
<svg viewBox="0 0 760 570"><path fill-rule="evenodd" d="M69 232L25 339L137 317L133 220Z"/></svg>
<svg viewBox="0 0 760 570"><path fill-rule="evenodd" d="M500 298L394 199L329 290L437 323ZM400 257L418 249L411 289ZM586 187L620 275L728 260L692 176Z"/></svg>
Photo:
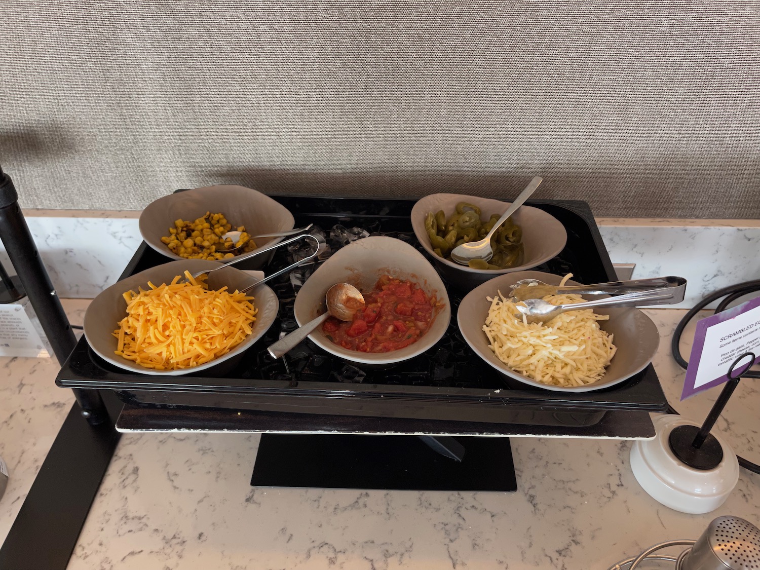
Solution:
<svg viewBox="0 0 760 570"><path fill-rule="evenodd" d="M207 186L176 192L151 202L140 214L140 234L147 245L171 259L182 259L161 241L174 227L174 220L196 220L206 212L221 212L233 226L245 226L255 236L260 233L283 232L295 226L293 214L269 196L243 186ZM285 238L259 238L261 247ZM241 261L245 269L261 269L271 261L274 252Z"/></svg>

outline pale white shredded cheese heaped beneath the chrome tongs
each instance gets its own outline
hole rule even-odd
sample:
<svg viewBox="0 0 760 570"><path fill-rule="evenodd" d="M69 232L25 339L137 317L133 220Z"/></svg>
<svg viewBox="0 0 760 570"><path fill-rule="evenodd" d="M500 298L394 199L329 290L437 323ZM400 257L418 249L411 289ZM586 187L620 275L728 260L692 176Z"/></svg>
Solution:
<svg viewBox="0 0 760 570"><path fill-rule="evenodd" d="M562 280L571 277L568 275ZM515 302L498 296L487 297L491 307L483 325L489 347L509 368L553 386L582 386L603 377L615 355L613 335L603 331L598 321L609 318L592 309L568 311L548 324L531 323L519 315ZM553 305L584 302L580 295L547 295Z"/></svg>

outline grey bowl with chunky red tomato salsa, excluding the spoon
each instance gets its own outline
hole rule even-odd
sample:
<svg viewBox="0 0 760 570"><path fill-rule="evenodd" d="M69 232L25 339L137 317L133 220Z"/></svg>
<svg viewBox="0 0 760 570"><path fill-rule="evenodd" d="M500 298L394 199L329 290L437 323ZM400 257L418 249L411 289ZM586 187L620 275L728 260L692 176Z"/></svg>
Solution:
<svg viewBox="0 0 760 570"><path fill-rule="evenodd" d="M296 296L299 325L325 312L325 293L351 283L364 307L350 322L329 317L309 338L350 363L388 366L425 352L451 320L446 288L424 256L400 239L372 236L338 250Z"/></svg>

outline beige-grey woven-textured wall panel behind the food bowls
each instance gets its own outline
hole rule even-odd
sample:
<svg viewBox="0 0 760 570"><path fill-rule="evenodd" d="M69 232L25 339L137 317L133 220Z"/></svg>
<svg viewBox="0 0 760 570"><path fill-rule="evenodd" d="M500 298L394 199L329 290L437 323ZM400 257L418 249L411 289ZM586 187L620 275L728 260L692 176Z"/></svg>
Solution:
<svg viewBox="0 0 760 570"><path fill-rule="evenodd" d="M760 217L758 2L0 3L24 207L269 193Z"/></svg>

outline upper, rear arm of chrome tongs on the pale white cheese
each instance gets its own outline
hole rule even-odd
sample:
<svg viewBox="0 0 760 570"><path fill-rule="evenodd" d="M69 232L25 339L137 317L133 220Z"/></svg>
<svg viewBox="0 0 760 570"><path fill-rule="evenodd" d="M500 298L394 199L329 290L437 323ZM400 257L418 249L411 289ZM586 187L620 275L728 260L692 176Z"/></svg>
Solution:
<svg viewBox="0 0 760 570"><path fill-rule="evenodd" d="M635 279L629 281L610 281L609 283L596 283L592 285L566 285L559 287L549 285L537 279L521 279L511 285L511 297L518 301L524 299L540 299L546 295L562 295L563 293L575 293L578 295L625 295L628 293L645 293L651 290L670 291L674 298L686 291L686 279L683 277L653 277L651 279ZM680 293L679 293L680 291ZM664 298L664 297L663 297Z"/></svg>

